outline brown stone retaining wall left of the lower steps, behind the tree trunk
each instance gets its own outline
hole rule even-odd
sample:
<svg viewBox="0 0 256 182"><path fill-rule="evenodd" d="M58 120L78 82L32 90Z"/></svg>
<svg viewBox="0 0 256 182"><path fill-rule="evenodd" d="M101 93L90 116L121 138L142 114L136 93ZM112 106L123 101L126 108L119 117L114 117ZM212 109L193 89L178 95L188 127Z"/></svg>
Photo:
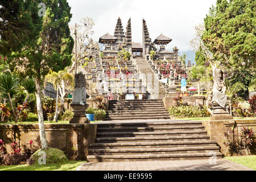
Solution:
<svg viewBox="0 0 256 182"><path fill-rule="evenodd" d="M89 143L94 143L97 125L94 124L45 124L48 146L58 148L65 152L69 159L73 152L77 151L77 158L86 159ZM22 153L28 152L27 144L34 140L32 152L40 149L40 137L38 124L31 125L0 125L0 139L5 142L7 152L11 152L11 142L20 142Z"/></svg>

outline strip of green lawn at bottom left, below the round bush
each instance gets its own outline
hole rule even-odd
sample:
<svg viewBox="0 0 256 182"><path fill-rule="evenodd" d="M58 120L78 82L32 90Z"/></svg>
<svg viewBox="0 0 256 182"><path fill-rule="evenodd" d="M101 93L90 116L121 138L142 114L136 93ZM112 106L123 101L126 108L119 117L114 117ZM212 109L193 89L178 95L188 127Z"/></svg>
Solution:
<svg viewBox="0 0 256 182"><path fill-rule="evenodd" d="M65 164L0 166L0 171L75 171L85 161L69 161Z"/></svg>

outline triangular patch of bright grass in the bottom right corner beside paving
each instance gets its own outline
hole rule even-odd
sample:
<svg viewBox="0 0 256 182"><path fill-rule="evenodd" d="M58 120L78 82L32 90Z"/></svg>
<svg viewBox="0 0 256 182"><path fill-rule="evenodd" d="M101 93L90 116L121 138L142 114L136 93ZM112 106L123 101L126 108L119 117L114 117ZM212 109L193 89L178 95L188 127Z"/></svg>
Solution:
<svg viewBox="0 0 256 182"><path fill-rule="evenodd" d="M246 166L256 170L256 155L232 156L232 157L225 157L225 159L231 160L234 163L241 164L242 166Z"/></svg>

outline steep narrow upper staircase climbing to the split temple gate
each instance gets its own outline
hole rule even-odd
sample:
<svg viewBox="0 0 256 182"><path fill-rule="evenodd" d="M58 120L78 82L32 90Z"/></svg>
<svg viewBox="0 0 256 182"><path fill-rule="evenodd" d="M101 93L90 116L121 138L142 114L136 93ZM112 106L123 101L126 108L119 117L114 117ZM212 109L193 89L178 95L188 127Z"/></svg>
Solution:
<svg viewBox="0 0 256 182"><path fill-rule="evenodd" d="M152 92L150 95L150 99L163 99L166 97L166 90L161 82L159 82L158 77L155 75L154 71L148 65L146 59L144 57L138 57L135 59L137 67L139 71L146 75L147 89L155 88L155 84L158 85L158 90L156 92ZM151 75L152 79L148 79L147 75ZM148 90L150 92L150 90Z"/></svg>

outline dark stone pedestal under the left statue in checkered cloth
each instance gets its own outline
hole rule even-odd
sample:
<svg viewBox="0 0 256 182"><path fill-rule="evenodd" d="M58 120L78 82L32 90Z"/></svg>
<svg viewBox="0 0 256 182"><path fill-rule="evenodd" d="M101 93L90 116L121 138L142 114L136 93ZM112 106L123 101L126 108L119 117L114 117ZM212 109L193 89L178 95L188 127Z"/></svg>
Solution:
<svg viewBox="0 0 256 182"><path fill-rule="evenodd" d="M86 118L85 112L86 112L86 106L80 105L80 104L71 104L72 111L74 113L73 118L69 123L90 123L89 119Z"/></svg>

